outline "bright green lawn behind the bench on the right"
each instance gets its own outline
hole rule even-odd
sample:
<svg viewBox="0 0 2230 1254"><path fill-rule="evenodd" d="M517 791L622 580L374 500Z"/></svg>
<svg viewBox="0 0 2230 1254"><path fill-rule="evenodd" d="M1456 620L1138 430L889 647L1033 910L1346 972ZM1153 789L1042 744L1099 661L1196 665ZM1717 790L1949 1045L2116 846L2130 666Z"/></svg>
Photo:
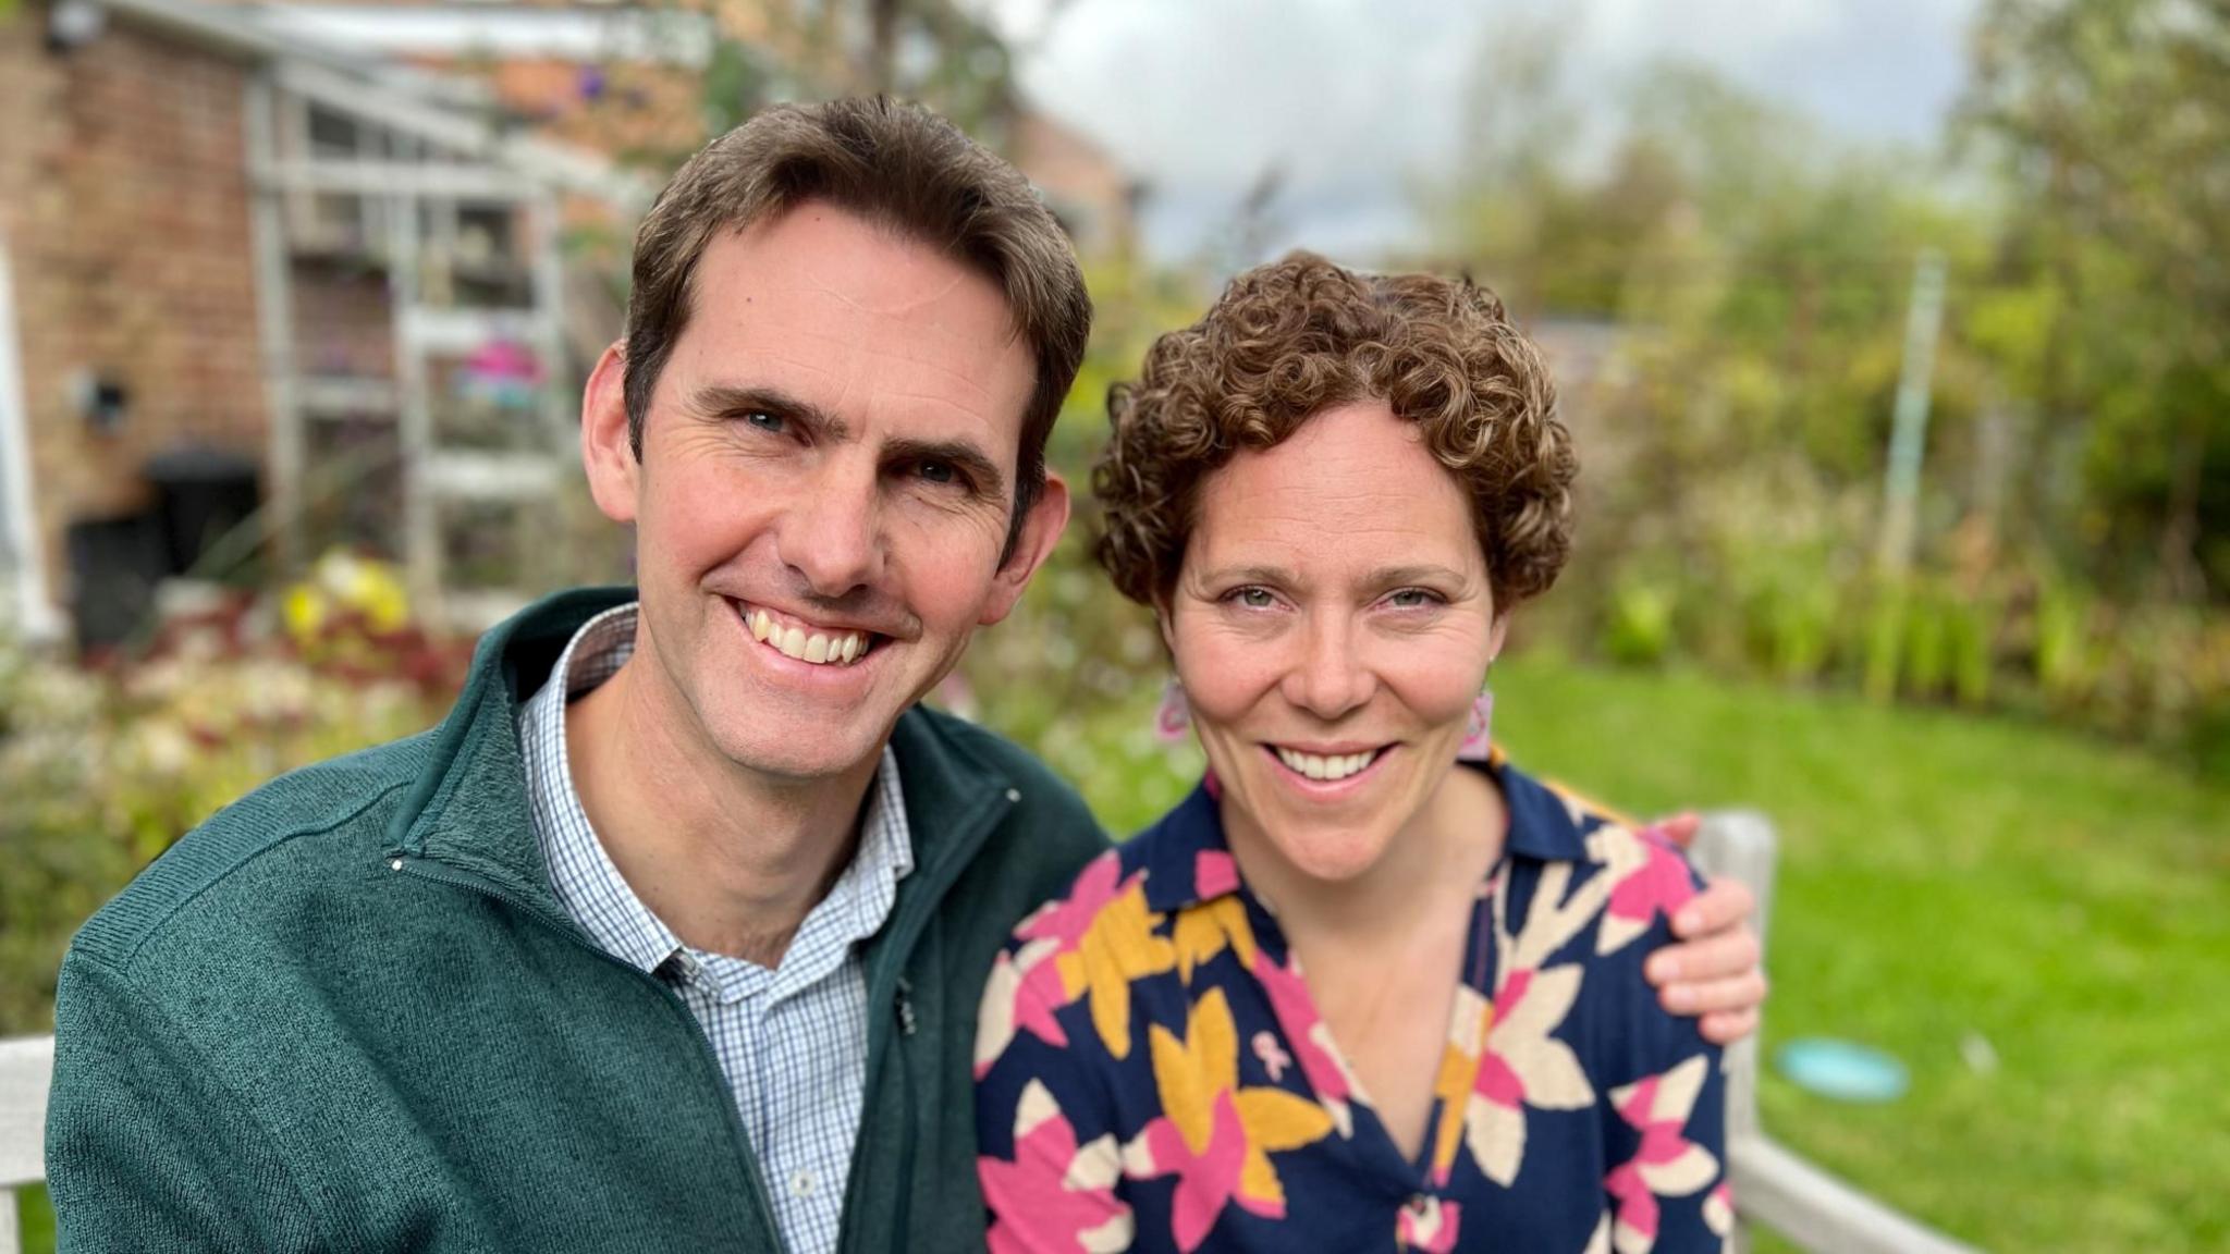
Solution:
<svg viewBox="0 0 2230 1254"><path fill-rule="evenodd" d="M1766 1049L1860 1040L1913 1089L1846 1107L1768 1075L1775 1138L1989 1250L2230 1247L2230 783L1844 696L1525 658L1494 683L1521 765L1780 826Z"/></svg>

